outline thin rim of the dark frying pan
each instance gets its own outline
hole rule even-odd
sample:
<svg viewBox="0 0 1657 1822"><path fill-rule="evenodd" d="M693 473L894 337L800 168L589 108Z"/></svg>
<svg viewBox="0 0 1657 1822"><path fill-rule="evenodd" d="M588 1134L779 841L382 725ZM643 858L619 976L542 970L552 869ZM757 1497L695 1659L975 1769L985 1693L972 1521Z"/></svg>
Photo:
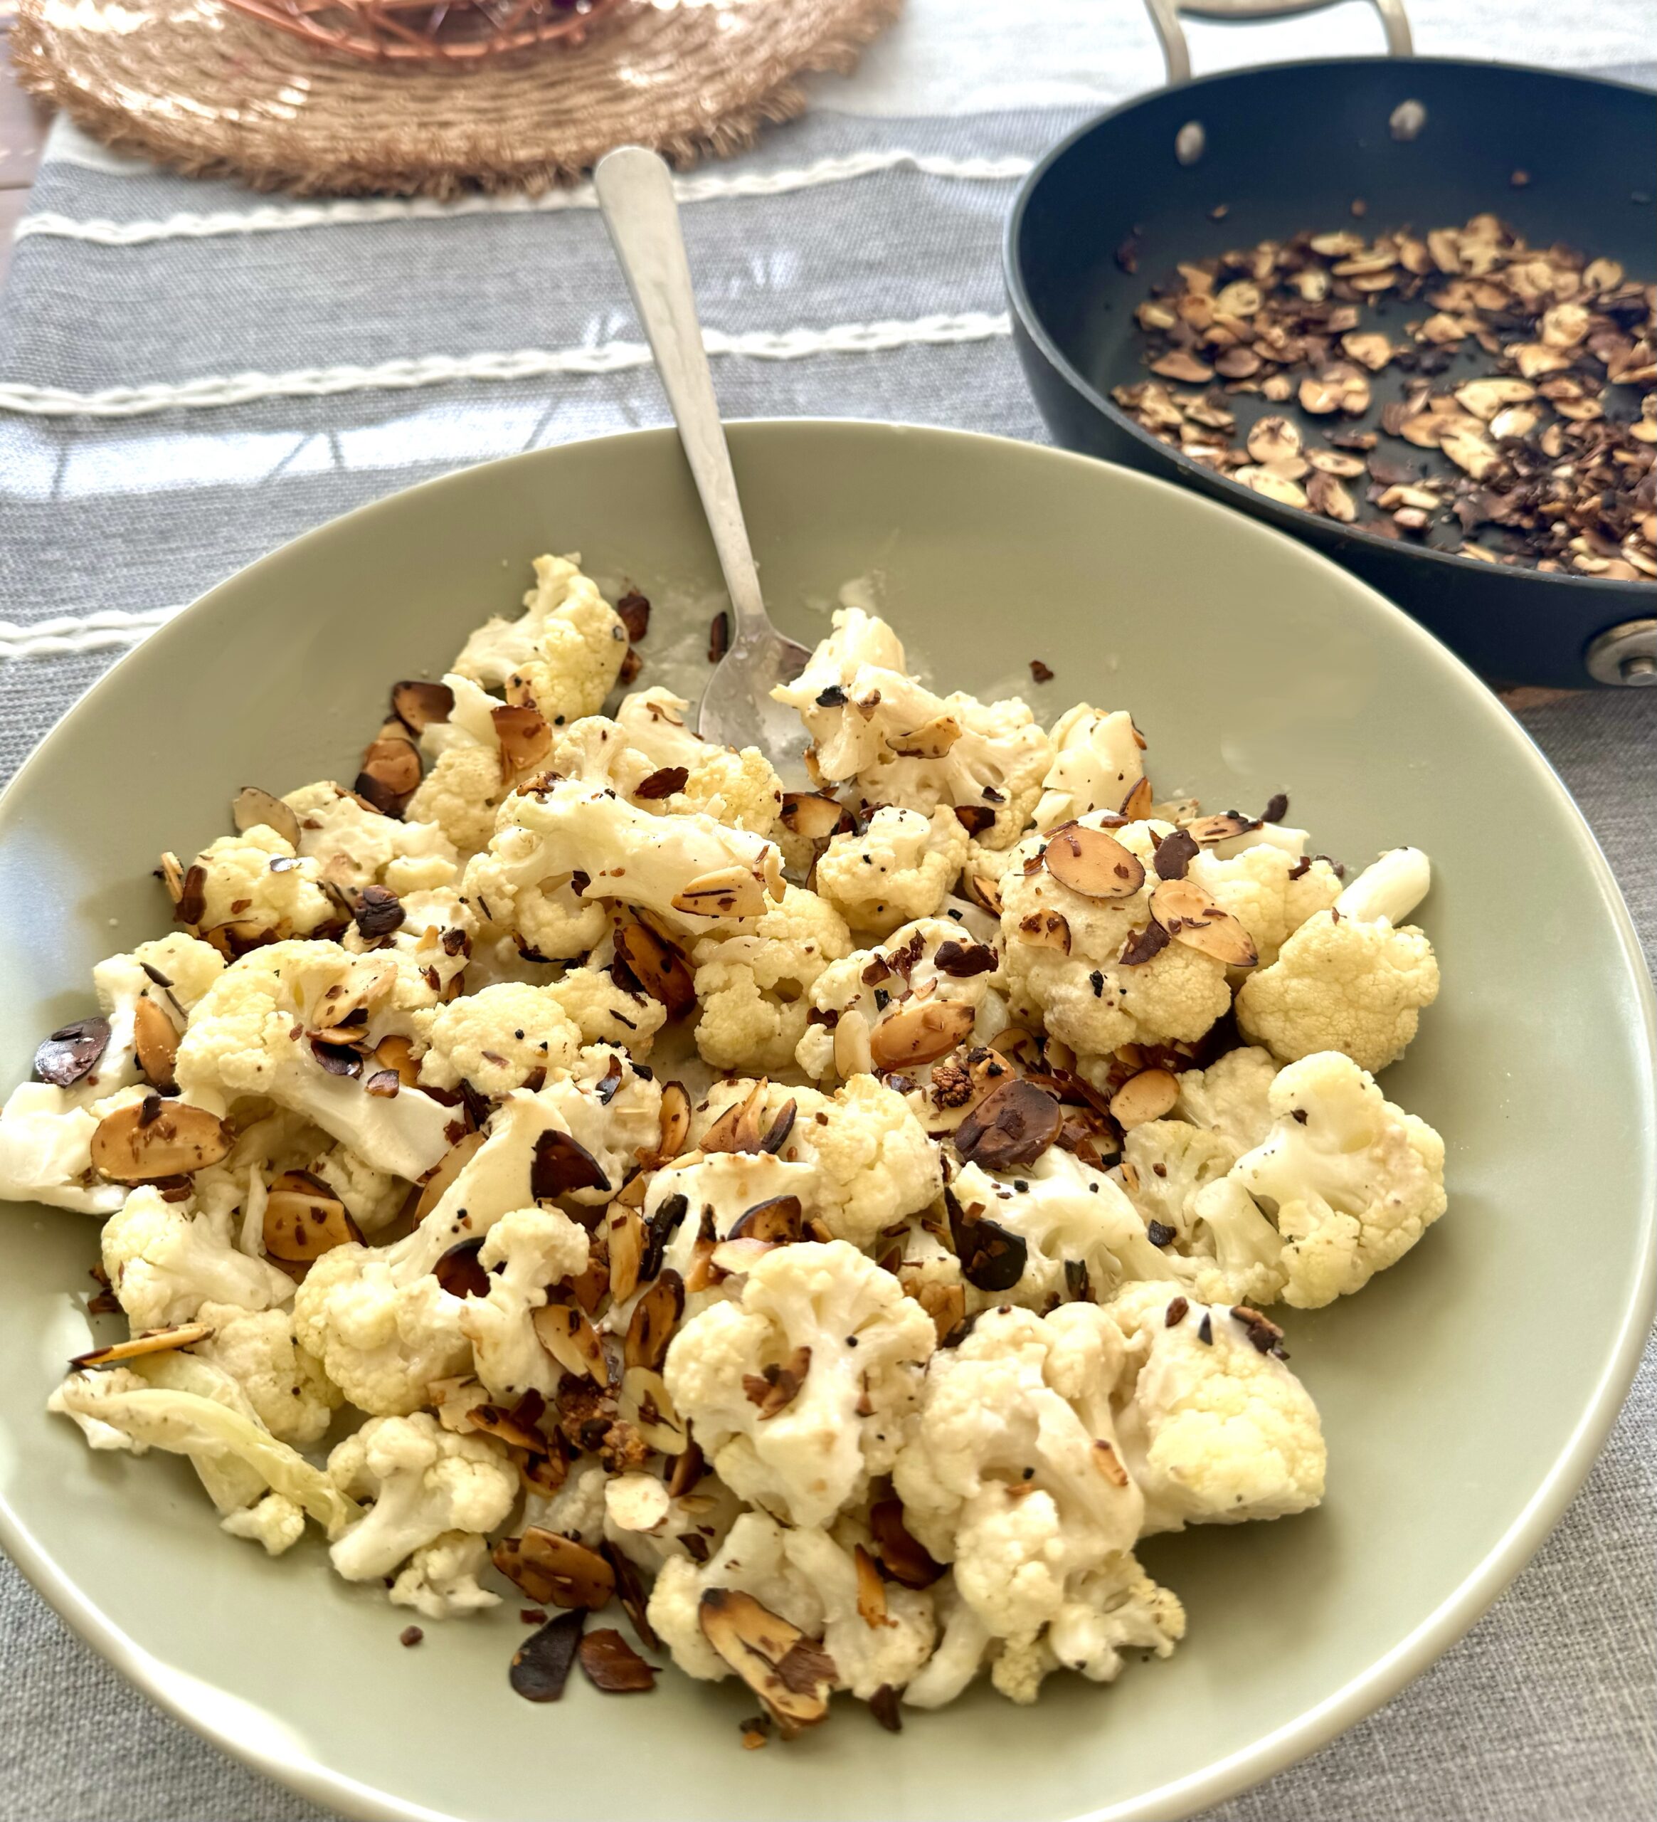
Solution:
<svg viewBox="0 0 1657 1822"><path fill-rule="evenodd" d="M1193 77L1189 82L1178 84L1178 93L1202 95L1205 89L1213 89L1220 84L1235 84L1249 77L1262 77L1278 69L1291 73L1316 71L1320 75L1335 77L1355 66L1391 66L1393 62L1393 58L1382 55L1286 58L1280 64L1251 64L1245 69L1216 69L1205 77ZM1652 89L1642 87L1637 82L1621 82L1613 77L1588 77L1579 75L1573 69L1539 69L1533 64L1506 64L1473 56L1409 56L1397 62L1400 62L1406 69L1477 69L1506 75L1548 77L1550 80L1577 82L1595 89L1615 89L1626 95L1644 97L1646 100L1657 100L1657 95L1653 95ZM1071 388L1072 394L1076 394L1076 397L1082 399L1083 404L1102 415L1113 428L1133 437L1133 441L1138 443L1145 454L1154 456L1182 479L1196 481L1198 486L1213 497L1224 499L1238 510L1247 512L1251 517L1266 519L1280 530L1295 534L1302 543L1309 541L1307 525L1311 525L1322 530L1324 539L1331 545L1358 541L1364 550L1389 552L1400 558L1417 558L1429 565L1449 565L1453 574L1466 574L1471 567L1477 572L1522 579L1526 585L1562 583L1579 592L1591 589L1595 592L1591 596L1582 596L1582 601L1599 599L1608 603L1610 612L1604 619L1606 627L1613 625L1617 619L1644 618L1644 612L1650 612L1653 603L1657 603L1657 579L1628 581L1626 578L1579 576L1571 570L1539 570L1520 565L1482 563L1477 558L1460 556L1455 550L1437 550L1431 545L1406 545L1391 537L1382 537L1378 532L1371 532L1362 525L1337 525L1335 521L1322 521L1316 514L1307 514L1298 507L1286 507L1266 494L1256 494L1255 488L1244 486L1242 481L1233 481L1229 474L1207 468L1184 450L1162 443L1158 437L1151 435L1144 425L1134 423L1134 419L1129 417L1120 404L1116 404L1107 394L1100 392L1091 379L1087 379L1087 375L1065 353L1058 337L1049 332L1045 319L1031 299L1029 286L1025 284L1023 255L1020 251L1023 219L1029 213L1043 180L1065 157L1069 157L1071 151L1082 144L1082 140L1091 138L1100 129L1111 126L1116 118L1171 93L1173 87L1164 84L1162 87L1149 89L1144 95L1133 95L1125 102L1118 102L1114 107L1107 107L1103 113L1096 113L1089 120L1083 120L1082 126L1072 128L1054 146L1049 146L1049 149L1042 153L1023 182L1018 186L1018 195L1012 199L1012 208L1007 211L1007 224L1001 230L1001 281L1007 288L1007 301L1012 306L1016 328L1023 332L1047 366L1052 368L1052 372ZM1619 614L1615 610L1619 601L1630 609L1639 607L1642 612L1637 616ZM1591 641L1584 640L1584 649L1588 643Z"/></svg>

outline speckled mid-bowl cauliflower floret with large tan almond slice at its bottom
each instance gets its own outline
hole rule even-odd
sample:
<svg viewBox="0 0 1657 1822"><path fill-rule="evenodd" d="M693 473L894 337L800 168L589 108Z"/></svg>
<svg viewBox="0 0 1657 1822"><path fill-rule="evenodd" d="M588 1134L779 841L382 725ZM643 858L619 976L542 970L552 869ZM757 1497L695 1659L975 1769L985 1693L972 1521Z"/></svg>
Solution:
<svg viewBox="0 0 1657 1822"><path fill-rule="evenodd" d="M905 924L885 942L823 969L794 1060L818 1080L854 1079L859 1071L916 1068L916 1055L936 1062L960 1046L989 1044L1007 1026L1000 967L1000 931L978 942L949 916ZM940 1009L921 1011L927 1006ZM938 1044L949 1037L956 1042L940 1053Z"/></svg>

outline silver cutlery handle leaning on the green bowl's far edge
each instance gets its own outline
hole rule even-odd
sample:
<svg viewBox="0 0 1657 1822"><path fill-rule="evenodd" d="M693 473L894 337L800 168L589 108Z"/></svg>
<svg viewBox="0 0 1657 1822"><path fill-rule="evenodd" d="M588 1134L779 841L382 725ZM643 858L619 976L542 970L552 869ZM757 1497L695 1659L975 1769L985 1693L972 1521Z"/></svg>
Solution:
<svg viewBox="0 0 1657 1822"><path fill-rule="evenodd" d="M674 179L654 151L621 146L599 160L594 188L714 534L736 616L730 643L737 645L767 632L770 619L708 374Z"/></svg>

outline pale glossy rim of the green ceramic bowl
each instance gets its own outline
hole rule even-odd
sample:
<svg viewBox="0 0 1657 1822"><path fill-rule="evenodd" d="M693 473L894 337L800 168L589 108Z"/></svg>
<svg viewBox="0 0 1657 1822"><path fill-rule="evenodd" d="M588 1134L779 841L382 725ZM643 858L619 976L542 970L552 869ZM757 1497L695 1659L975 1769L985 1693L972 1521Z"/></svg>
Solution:
<svg viewBox="0 0 1657 1822"><path fill-rule="evenodd" d="M1280 534L1247 516L1231 512L1216 499L1193 494L1158 476L1147 476L1134 468L1114 463L1102 463L1096 457L1072 450L1051 448L1038 443L1020 443L1012 437L989 435L985 432L954 430L938 425L890 423L883 419L845 419L845 417L761 417L728 421L736 456L741 459L745 445L759 445L772 437L788 441L792 437L843 437L847 443L878 437L925 437L941 439L960 446L981 446L991 459L1001 457L1056 466L1083 466L1087 470L1105 470L1107 485L1127 488L1149 488L1174 496L1185 512L1215 514L1227 525L1238 528L1238 536L1280 539ZM503 470L508 465L537 465L557 459L566 450L579 450L592 445L634 443L652 439L656 443L674 443L672 426L652 426L641 430L621 430L603 437L583 437L574 443L554 445L541 450L524 450L517 456L504 456L490 463L473 463L437 476L413 486L399 488L366 505L355 507L339 517L302 532L279 545L275 550L217 583L198 596L182 612L158 627L144 649L157 647L169 650L177 641L195 636L202 621L202 610L219 603L228 590L235 590L244 578L257 570L280 563L288 550L311 539L344 536L346 527L371 525L375 516L390 516L404 508L412 496L426 496L439 488L466 485L481 472ZM1014 454L1016 452L1016 454ZM1588 820L1577 807L1575 798L1560 780L1520 723L1497 701L1482 683L1448 645L1437 640L1422 625L1411 619L1382 594L1360 581L1320 550L1300 539L1289 539L1296 556L1316 568L1327 572L1331 585L1364 598L1366 612L1388 621L1395 634L1413 645L1422 661L1438 665L1446 674L1459 680L1468 692L1468 705L1484 716L1486 725L1497 740L1508 742L1508 751L1515 765L1528 767L1535 782L1557 794L1570 811L1575 833L1588 858L1590 875L1599 889L1610 926L1617 938L1622 964L1633 982L1633 1009L1644 1037L1642 1066L1648 1086L1657 1084L1657 991L1644 962L1639 933L1622 898L1622 891L1611 873L1610 864L1595 838ZM137 647L135 647L137 650ZM47 773L56 762L56 749L67 740L71 723L78 723L86 714L102 707L106 694L118 689L113 680L126 667L131 652L122 654L109 670L86 691L53 729L42 738L35 751L18 767L13 780L0 793L0 840L5 836L9 814L22 791L33 789L38 774ZM1657 1091L1657 1090L1653 1090ZM1296 1715L1275 1733L1264 1735L1227 1758L1204 1766L1184 1778L1156 1786L1138 1796L1122 1802L1103 1804L1078 1813L1072 1822L1178 1822L1211 1804L1224 1802L1240 1791L1262 1784L1266 1778L1296 1764L1318 1747L1327 1745L1337 1735L1375 1713L1389 1702L1408 1682L1429 1669L1469 1627L1486 1612L1495 1598L1508 1587L1530 1558L1540 1549L1573 1494L1581 1489L1593 1467L1595 1458L1622 1408L1633 1376L1639 1370L1646 1337L1657 1317L1657 1170L1646 1182L1642 1224L1637 1233L1641 1248L1637 1268L1630 1274L1622 1314L1615 1337L1604 1356L1604 1366L1595 1381L1588 1401L1577 1419L1575 1428L1553 1461L1542 1472L1530 1500L1515 1512L1502 1536L1491 1545L1477 1569L1468 1574L1437 1607L1391 1651L1378 1656L1360 1674L1349 1678L1331 1691L1313 1707ZM4 1418L0 1418L4 1423ZM189 1696L193 1678L158 1660L137 1638L124 1633L102 1609L82 1594L71 1574L60 1572L47 1552L35 1541L35 1536L13 1510L4 1489L0 1489L0 1547L16 1563L35 1591L47 1605L91 1645L107 1663L111 1663L129 1684L140 1689L151 1702L182 1722L191 1733L208 1740L219 1751L271 1778L273 1782L297 1791L311 1802L331 1806L346 1817L362 1822L463 1822L450 1811L430 1809L424 1804L393 1796L388 1791L373 1789L348 1773L324 1764L320 1758L306 1756L291 1760L275 1749L257 1742L237 1738L229 1724L193 1711Z"/></svg>

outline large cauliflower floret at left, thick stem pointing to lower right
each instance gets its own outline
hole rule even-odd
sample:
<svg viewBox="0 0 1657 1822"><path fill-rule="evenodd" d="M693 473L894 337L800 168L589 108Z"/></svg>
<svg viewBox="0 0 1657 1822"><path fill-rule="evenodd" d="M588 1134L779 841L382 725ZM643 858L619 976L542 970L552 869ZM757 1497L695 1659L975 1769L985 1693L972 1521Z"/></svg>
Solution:
<svg viewBox="0 0 1657 1822"><path fill-rule="evenodd" d="M370 1095L362 1070L335 1075L304 1042L366 1006L395 998L395 955L350 955L331 942L279 942L244 955L206 991L178 1046L186 1100L224 1115L259 1095L306 1115L364 1164L410 1182L448 1150L452 1111L419 1090ZM373 1024L370 1022L370 1033Z"/></svg>

